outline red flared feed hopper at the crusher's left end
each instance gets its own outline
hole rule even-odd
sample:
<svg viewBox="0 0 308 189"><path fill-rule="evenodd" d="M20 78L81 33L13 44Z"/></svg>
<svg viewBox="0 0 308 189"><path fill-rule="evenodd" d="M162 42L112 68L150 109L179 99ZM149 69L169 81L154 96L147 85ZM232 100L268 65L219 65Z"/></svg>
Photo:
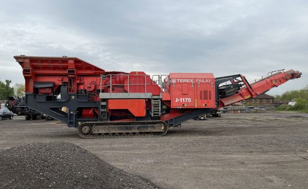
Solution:
<svg viewBox="0 0 308 189"><path fill-rule="evenodd" d="M14 56L14 58L23 68L26 81L25 92L33 92L34 82L53 82L56 88L57 85L68 82L69 79L69 92L77 92L80 85L93 83L93 81L99 84L100 74L105 74L104 69L75 57ZM84 80L88 82L84 83ZM96 86L91 86L93 87ZM40 89L40 93L50 92Z"/></svg>

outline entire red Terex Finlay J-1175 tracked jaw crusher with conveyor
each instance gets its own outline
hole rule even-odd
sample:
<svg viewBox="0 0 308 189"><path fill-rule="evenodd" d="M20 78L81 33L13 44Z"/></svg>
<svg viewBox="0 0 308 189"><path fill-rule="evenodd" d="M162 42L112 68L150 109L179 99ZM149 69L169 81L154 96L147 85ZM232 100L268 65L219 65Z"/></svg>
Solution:
<svg viewBox="0 0 308 189"><path fill-rule="evenodd" d="M254 83L241 74L150 77L143 71L105 71L67 56L14 58L23 68L26 105L78 128L83 138L162 136L170 127L301 76L278 70Z"/></svg>

